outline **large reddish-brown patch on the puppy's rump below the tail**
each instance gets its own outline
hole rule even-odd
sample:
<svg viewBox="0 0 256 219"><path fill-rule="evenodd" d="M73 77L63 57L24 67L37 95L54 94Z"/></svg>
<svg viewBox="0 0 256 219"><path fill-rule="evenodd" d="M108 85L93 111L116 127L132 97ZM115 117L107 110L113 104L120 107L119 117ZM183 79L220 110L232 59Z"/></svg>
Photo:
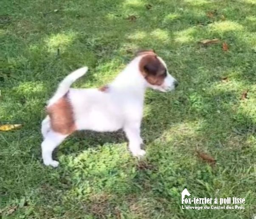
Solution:
<svg viewBox="0 0 256 219"><path fill-rule="evenodd" d="M68 99L68 93L56 103L47 107L47 112L50 116L51 129L54 132L69 135L76 130L73 109Z"/></svg>

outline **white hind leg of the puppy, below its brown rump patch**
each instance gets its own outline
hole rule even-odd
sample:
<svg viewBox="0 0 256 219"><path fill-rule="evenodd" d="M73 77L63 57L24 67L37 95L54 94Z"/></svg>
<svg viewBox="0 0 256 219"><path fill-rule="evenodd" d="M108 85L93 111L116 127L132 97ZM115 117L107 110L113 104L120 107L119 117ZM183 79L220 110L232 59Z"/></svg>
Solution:
<svg viewBox="0 0 256 219"><path fill-rule="evenodd" d="M41 144L42 159L46 166L57 167L59 162L52 159L53 150L60 144L68 135L62 135L57 132L49 131L44 141Z"/></svg>

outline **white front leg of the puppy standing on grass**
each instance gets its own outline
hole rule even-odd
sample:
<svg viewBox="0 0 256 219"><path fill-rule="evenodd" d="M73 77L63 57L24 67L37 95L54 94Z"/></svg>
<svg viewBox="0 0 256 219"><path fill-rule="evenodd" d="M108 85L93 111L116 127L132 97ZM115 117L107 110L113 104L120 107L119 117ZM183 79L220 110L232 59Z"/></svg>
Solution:
<svg viewBox="0 0 256 219"><path fill-rule="evenodd" d="M124 132L129 140L129 150L135 157L142 157L146 154L144 150L141 149L141 144L143 143L140 136L140 123L129 123L124 126Z"/></svg>

